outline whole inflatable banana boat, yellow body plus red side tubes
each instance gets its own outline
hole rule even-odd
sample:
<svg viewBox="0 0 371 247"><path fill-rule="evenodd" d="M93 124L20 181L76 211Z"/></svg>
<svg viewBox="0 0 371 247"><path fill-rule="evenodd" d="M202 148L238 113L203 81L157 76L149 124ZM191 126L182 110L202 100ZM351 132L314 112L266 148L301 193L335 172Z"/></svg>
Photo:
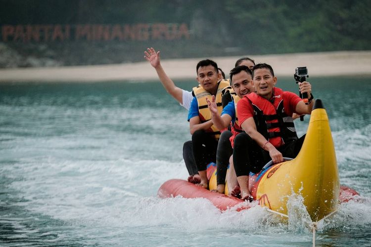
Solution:
<svg viewBox="0 0 371 247"><path fill-rule="evenodd" d="M207 171L209 190L216 189L216 165L209 164ZM276 165L267 164L260 173L250 177L249 185L252 185L251 195L261 206L285 215L288 197L293 194L301 195L312 221L321 220L334 212L339 202L347 202L358 195L348 187L340 187L331 130L321 100L316 100L307 134L297 157ZM203 197L221 210L242 203L241 200L228 196L228 184L226 195L209 190L185 180L172 179L160 187L158 196ZM237 207L237 210L248 207Z"/></svg>

